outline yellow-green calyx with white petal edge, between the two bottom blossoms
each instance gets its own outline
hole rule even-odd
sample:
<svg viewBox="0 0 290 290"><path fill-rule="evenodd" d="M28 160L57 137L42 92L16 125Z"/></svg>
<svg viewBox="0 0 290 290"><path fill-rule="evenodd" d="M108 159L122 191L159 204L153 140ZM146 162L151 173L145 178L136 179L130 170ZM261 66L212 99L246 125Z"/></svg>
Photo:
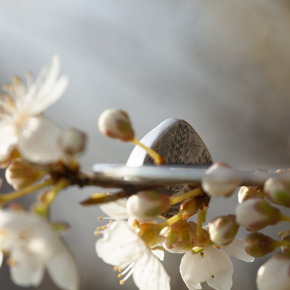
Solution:
<svg viewBox="0 0 290 290"><path fill-rule="evenodd" d="M187 220L178 221L171 226L166 226L160 232L166 238L162 246L171 253L185 253L185 249L174 247L178 242L190 242L189 227Z"/></svg>

